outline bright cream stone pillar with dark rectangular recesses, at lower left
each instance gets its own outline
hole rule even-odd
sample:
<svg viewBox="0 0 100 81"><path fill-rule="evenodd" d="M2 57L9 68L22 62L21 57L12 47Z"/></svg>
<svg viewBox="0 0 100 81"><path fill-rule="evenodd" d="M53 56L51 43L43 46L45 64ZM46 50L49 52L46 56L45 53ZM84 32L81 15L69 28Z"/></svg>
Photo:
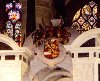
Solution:
<svg viewBox="0 0 100 81"><path fill-rule="evenodd" d="M23 76L29 67L31 55L27 48L0 51L0 81L24 81Z"/></svg>

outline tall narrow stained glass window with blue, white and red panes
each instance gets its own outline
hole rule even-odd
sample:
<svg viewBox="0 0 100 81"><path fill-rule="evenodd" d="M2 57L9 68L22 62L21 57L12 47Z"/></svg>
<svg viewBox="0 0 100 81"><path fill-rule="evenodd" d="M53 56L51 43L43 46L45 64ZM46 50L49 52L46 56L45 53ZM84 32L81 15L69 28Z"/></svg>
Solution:
<svg viewBox="0 0 100 81"><path fill-rule="evenodd" d="M13 1L6 4L8 19L6 22L6 34L13 38L21 46L21 7L19 2Z"/></svg>

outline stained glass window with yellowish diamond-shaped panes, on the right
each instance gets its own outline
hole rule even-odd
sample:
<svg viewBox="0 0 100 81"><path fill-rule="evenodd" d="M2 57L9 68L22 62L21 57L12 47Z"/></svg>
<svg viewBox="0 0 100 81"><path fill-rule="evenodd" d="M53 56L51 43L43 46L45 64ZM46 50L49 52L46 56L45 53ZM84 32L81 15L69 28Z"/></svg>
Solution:
<svg viewBox="0 0 100 81"><path fill-rule="evenodd" d="M93 1L79 9L73 18L72 28L79 33L97 28L97 4Z"/></svg>

